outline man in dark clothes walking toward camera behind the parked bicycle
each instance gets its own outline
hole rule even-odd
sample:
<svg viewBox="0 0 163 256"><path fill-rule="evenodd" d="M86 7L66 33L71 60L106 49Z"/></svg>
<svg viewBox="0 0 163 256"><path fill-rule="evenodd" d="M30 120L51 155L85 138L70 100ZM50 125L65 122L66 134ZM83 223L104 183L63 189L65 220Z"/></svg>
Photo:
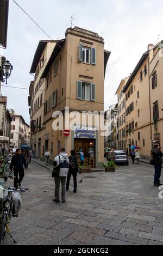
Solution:
<svg viewBox="0 0 163 256"><path fill-rule="evenodd" d="M21 149L16 149L16 154L12 156L10 163L10 170L14 167L14 187L17 189L21 187L21 181L24 178L24 170L27 169L27 163L25 157L22 155ZM19 175L19 179L18 179ZM17 185L18 184L18 185Z"/></svg>

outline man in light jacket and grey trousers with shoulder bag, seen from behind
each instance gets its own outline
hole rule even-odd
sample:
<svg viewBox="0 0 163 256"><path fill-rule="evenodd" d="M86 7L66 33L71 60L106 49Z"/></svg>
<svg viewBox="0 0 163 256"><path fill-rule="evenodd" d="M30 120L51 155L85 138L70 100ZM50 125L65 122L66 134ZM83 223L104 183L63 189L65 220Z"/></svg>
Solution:
<svg viewBox="0 0 163 256"><path fill-rule="evenodd" d="M68 156L65 153L65 148L60 148L58 150L58 156L54 159L55 162L57 162L57 166L59 166L59 175L54 177L55 181L55 198L53 199L53 202L59 203L59 187L61 183L62 191L61 191L61 198L62 203L66 202L65 194L66 194L66 177L68 173L68 166L69 166L69 160Z"/></svg>

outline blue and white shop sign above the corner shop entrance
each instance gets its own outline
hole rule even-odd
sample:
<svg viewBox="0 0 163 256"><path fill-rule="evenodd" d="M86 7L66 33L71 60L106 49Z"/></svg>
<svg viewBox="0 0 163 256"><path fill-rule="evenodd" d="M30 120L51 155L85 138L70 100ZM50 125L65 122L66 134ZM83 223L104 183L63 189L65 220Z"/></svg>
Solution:
<svg viewBox="0 0 163 256"><path fill-rule="evenodd" d="M76 126L74 127L74 138L96 139L96 128Z"/></svg>

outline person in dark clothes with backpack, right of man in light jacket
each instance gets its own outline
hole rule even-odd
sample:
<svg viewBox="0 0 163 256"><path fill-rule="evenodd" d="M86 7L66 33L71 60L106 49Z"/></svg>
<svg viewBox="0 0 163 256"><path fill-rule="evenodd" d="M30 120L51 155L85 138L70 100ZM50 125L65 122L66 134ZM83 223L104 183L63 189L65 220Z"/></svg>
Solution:
<svg viewBox="0 0 163 256"><path fill-rule="evenodd" d="M70 166L67 174L66 190L69 190L70 178L73 176L73 192L77 193L77 173L78 173L78 158L76 152L71 150L71 156L68 157Z"/></svg>

